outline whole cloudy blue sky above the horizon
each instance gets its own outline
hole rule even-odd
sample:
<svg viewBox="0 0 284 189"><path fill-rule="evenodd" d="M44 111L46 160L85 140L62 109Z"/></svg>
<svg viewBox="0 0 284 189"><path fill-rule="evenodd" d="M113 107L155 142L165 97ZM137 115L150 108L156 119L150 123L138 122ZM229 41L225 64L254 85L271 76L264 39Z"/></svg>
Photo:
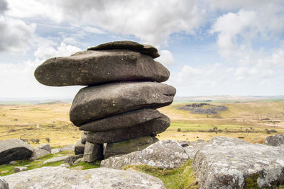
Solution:
<svg viewBox="0 0 284 189"><path fill-rule="evenodd" d="M115 40L157 47L176 96L284 95L283 0L0 0L0 98L73 98L35 68Z"/></svg>

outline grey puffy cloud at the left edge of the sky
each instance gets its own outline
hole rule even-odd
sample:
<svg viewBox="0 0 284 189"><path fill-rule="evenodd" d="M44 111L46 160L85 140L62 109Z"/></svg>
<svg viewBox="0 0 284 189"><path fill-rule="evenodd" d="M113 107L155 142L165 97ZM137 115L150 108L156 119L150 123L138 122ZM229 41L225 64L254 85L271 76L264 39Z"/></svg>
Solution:
<svg viewBox="0 0 284 189"><path fill-rule="evenodd" d="M0 52L26 52L35 33L35 24L19 19L0 17Z"/></svg>

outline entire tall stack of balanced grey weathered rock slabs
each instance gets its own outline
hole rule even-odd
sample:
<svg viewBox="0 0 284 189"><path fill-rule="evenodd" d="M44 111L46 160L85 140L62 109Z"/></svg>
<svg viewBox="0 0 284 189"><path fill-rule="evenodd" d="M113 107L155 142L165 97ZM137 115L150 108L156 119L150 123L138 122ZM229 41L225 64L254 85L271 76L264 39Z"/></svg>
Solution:
<svg viewBox="0 0 284 189"><path fill-rule="evenodd" d="M151 45L116 41L48 59L35 69L41 84L87 86L70 109L71 122L84 131L76 145L84 147L84 161L142 150L170 126L170 119L156 110L175 96L173 86L160 84L170 72L154 60L159 56ZM82 151L77 148L77 154Z"/></svg>

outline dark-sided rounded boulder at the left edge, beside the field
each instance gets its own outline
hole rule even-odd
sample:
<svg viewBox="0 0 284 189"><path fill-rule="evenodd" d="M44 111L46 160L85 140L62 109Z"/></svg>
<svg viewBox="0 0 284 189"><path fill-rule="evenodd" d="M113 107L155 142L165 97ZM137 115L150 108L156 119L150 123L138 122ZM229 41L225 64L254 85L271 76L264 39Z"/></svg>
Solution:
<svg viewBox="0 0 284 189"><path fill-rule="evenodd" d="M10 161L30 158L33 147L21 139L6 139L0 141L0 165Z"/></svg>

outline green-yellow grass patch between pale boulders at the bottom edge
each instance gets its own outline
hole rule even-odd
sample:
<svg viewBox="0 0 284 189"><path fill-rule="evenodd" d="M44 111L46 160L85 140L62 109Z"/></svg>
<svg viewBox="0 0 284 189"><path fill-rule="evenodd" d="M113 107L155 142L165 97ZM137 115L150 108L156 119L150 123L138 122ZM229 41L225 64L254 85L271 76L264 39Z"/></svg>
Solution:
<svg viewBox="0 0 284 189"><path fill-rule="evenodd" d="M192 161L190 159L180 168L175 169L160 169L147 165L126 166L124 169L134 169L160 178L168 189L198 188L195 173L192 169Z"/></svg>

